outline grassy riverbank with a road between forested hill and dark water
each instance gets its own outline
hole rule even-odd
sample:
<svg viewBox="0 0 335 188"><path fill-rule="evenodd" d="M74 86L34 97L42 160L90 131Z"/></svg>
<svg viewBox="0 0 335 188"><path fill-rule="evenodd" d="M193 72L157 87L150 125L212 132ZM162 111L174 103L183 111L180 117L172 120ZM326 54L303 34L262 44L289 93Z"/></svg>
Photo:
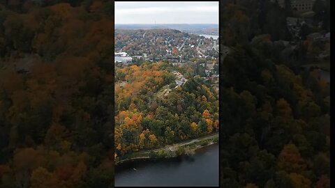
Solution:
<svg viewBox="0 0 335 188"><path fill-rule="evenodd" d="M141 152L135 152L131 157L121 159L115 162L115 165L124 164L126 162L134 162L137 160L156 160L179 157L181 155L194 155L195 150L211 146L218 143L218 133L209 134L191 141L184 141L181 143L174 143L172 146L165 146L154 150L147 150Z"/></svg>

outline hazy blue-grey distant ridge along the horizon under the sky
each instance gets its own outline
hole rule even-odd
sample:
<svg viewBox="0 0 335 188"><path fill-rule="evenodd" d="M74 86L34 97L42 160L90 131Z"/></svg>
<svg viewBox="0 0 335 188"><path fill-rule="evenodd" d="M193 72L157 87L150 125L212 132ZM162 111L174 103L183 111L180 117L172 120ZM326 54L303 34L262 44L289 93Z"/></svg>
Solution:
<svg viewBox="0 0 335 188"><path fill-rule="evenodd" d="M218 35L218 24L115 24L115 29L177 29L188 33Z"/></svg>

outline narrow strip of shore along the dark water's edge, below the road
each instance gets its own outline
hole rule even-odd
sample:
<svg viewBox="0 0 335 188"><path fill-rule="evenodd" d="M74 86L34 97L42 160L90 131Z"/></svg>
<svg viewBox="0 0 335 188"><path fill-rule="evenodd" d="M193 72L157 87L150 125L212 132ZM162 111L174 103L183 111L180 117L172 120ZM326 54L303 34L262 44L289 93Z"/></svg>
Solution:
<svg viewBox="0 0 335 188"><path fill-rule="evenodd" d="M218 134L214 134L214 135L218 135ZM201 146L201 144L197 144L197 146L195 147L192 147L191 150L193 150L193 152L196 152L196 150L199 150L201 148L206 148L208 146L212 146L214 144L217 144L218 141L211 141L210 143L208 143L207 145L204 145L204 146ZM177 157L181 157L181 156L192 156L194 155L191 154L191 155L187 155L186 152L183 152L181 155L174 155L174 156L162 156L162 157L149 157L149 156L142 156L142 157L132 157L132 158L128 158L128 159L122 159L121 161L118 161L118 162L115 162L115 166L118 166L118 165L122 165L122 164L127 164L129 162L135 162L135 161L146 161L146 160L149 160L149 161L155 161L155 160L158 160L158 159L174 159L174 158L177 158Z"/></svg>

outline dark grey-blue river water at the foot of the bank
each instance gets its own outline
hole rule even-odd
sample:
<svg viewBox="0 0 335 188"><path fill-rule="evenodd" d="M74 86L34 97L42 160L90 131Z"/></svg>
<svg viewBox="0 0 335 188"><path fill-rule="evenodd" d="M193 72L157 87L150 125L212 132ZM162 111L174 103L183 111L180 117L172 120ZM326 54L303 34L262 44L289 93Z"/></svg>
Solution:
<svg viewBox="0 0 335 188"><path fill-rule="evenodd" d="M116 166L115 186L218 187L218 171L218 144L214 144L198 149L192 157Z"/></svg>

